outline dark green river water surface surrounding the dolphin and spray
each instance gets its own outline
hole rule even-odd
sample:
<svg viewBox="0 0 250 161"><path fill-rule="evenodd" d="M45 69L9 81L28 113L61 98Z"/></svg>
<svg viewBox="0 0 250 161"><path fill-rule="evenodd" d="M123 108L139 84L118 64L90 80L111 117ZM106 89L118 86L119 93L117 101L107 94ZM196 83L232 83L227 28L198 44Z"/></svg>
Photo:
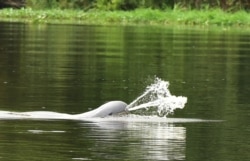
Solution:
<svg viewBox="0 0 250 161"><path fill-rule="evenodd" d="M249 54L244 29L0 23L0 110L129 103L157 76L188 97L171 117L224 120L2 119L0 160L248 161Z"/></svg>

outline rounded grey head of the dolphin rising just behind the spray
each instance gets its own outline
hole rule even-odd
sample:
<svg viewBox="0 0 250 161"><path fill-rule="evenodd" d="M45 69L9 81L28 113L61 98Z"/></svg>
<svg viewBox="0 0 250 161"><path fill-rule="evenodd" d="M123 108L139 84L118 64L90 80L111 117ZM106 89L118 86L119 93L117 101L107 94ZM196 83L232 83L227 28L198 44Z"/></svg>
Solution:
<svg viewBox="0 0 250 161"><path fill-rule="evenodd" d="M97 109L89 112L75 115L78 118L90 118L90 117L106 117L109 115L115 115L126 111L127 104L123 101L110 101Z"/></svg>

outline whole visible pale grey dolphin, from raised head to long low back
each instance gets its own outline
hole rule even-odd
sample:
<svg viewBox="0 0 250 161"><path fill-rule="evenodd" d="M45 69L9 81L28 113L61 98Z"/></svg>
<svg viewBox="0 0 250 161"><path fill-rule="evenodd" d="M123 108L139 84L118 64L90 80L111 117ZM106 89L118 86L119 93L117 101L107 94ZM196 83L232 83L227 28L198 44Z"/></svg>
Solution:
<svg viewBox="0 0 250 161"><path fill-rule="evenodd" d="M122 101L110 101L97 109L82 114L65 114L51 111L10 112L0 111L1 119L67 119L84 120L85 118L106 117L126 111L127 104Z"/></svg>

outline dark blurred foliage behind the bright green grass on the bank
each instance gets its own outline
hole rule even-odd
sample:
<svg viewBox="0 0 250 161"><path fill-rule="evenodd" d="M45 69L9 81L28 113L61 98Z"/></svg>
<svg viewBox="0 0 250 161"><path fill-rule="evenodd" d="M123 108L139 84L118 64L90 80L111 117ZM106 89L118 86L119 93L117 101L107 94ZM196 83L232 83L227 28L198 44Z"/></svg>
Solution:
<svg viewBox="0 0 250 161"><path fill-rule="evenodd" d="M2 0L3 1L3 0ZM227 11L249 10L249 0L26 0L26 7L34 9L100 9L134 10L151 9L209 9L222 8Z"/></svg>

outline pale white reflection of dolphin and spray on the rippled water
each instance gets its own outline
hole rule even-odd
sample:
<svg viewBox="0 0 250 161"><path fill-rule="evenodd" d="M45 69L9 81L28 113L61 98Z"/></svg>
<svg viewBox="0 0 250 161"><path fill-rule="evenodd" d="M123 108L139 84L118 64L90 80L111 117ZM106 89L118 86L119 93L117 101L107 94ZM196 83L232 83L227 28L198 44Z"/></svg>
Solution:
<svg viewBox="0 0 250 161"><path fill-rule="evenodd" d="M126 151L121 153L125 153L132 160L185 159L185 127L164 122L104 121L95 125L98 128L93 129L89 135L95 138L97 149L102 145L108 145L105 146L105 151L125 146Z"/></svg>

